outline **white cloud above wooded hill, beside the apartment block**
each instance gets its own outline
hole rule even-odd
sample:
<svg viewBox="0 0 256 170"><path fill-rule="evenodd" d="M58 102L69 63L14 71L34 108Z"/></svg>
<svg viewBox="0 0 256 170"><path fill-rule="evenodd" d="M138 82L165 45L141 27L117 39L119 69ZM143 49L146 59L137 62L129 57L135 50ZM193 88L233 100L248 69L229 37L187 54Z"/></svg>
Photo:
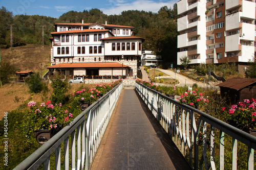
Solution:
<svg viewBox="0 0 256 170"><path fill-rule="evenodd" d="M167 6L173 7L176 0L170 0L168 2L155 2L152 0L136 0L134 2L125 2L122 0L110 0L109 3L111 4L111 8L101 8L100 10L107 15L114 15L120 14L122 11L127 10L143 10L143 11L151 11L151 12L158 12L161 7Z"/></svg>

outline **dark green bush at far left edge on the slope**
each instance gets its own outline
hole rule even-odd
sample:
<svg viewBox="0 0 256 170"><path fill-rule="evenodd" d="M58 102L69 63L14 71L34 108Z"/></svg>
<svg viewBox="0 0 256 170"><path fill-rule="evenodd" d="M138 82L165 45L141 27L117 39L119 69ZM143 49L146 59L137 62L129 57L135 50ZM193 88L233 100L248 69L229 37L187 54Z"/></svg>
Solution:
<svg viewBox="0 0 256 170"><path fill-rule="evenodd" d="M10 76L14 75L17 71L17 68L10 64L9 62L1 62L1 69L0 69L0 78L2 84L6 84L10 80Z"/></svg>

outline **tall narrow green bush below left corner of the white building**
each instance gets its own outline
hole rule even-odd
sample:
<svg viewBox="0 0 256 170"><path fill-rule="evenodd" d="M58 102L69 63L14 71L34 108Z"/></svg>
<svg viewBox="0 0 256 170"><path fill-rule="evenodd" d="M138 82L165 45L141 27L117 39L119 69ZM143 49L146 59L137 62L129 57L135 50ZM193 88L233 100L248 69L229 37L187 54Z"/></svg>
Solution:
<svg viewBox="0 0 256 170"><path fill-rule="evenodd" d="M56 78L53 79L51 86L53 88L52 102L64 104L66 92L70 88L68 80L62 80L61 75L57 75Z"/></svg>

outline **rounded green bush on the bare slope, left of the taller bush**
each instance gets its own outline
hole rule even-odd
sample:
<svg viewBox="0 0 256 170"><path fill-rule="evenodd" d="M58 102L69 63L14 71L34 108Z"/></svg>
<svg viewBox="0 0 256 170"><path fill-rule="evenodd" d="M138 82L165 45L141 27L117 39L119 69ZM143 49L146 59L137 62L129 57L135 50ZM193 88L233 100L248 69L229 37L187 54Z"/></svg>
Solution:
<svg viewBox="0 0 256 170"><path fill-rule="evenodd" d="M48 90L48 87L40 77L39 72L31 75L28 81L28 86L31 93L39 93L42 90Z"/></svg>

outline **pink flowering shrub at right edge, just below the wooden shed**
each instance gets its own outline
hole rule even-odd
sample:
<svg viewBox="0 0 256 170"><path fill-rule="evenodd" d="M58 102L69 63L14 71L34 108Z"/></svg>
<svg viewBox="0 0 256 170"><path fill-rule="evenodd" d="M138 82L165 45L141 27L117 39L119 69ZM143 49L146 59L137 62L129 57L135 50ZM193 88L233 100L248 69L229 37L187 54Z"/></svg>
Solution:
<svg viewBox="0 0 256 170"><path fill-rule="evenodd" d="M256 129L256 99L245 99L230 108L222 108L227 120L236 125L243 125L248 129Z"/></svg>

